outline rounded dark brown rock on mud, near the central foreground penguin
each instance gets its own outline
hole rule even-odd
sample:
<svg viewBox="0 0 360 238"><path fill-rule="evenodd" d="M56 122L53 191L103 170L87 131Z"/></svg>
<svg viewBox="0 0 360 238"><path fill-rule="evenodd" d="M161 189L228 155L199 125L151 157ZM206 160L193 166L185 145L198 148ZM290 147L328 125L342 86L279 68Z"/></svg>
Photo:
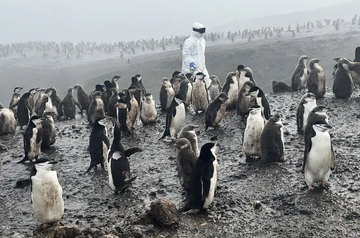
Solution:
<svg viewBox="0 0 360 238"><path fill-rule="evenodd" d="M176 206L166 198L153 201L150 206L150 214L160 227L177 227L179 225L180 218Z"/></svg>

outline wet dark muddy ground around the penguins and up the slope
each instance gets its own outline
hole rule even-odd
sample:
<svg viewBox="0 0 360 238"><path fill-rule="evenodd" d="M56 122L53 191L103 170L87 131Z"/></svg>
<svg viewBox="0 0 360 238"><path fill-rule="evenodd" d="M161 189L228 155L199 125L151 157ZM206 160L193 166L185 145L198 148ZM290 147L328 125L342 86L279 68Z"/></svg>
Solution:
<svg viewBox="0 0 360 238"><path fill-rule="evenodd" d="M210 68L214 73L222 70L219 73L222 79L237 64L249 65L254 70L255 80L266 88L272 79L289 81L298 56L308 54L323 59L322 65L331 87L331 59L338 55L353 58L358 37L358 32L349 30L340 35L289 37L268 42L259 40L242 46L236 43L217 45L209 47L207 62L209 71ZM127 87L130 84L128 78L140 72L147 90L157 98L161 77L171 75L180 67L178 56L177 51L138 56L138 63L123 63L121 70L114 69L115 58L61 67L50 63L48 67L32 63L34 65L30 67L22 63L23 67L17 68L15 63L2 62L6 67L2 67L1 74L14 81L19 80L15 75L26 74L27 85L29 82L36 87L62 85L61 90L65 90L73 82L86 81L93 85L95 81L102 82L113 73L122 72L125 82L120 82L120 86ZM61 72L64 73L61 75ZM154 76L146 77L147 74ZM42 79L44 75L48 76L47 80ZM59 78L52 78L52 75ZM61 79L63 81L59 81ZM3 89L3 85L8 87L4 83L1 82L1 95L8 95L9 92ZM54 169L63 187L65 214L62 222L77 224L81 229L100 228L104 233L137 237L359 237L360 90L357 89L349 100L335 99L329 90L325 98L318 101L318 104L330 108L328 114L333 126L330 132L336 168L330 176L330 189L314 191L307 189L300 172L304 143L302 136L296 133L295 114L302 94L268 93L272 113L280 113L283 117L285 163L259 166L245 162L241 146L245 121L234 111L224 118L218 131L208 132L204 131L203 115L187 115L187 123L200 126L200 145L217 137L220 174L208 213L181 215L179 228L175 230L133 224L156 198L168 198L177 207L183 205L184 194L177 178L176 162L169 159L175 155L174 147L158 141L164 129L165 115L159 114L155 125L143 126L139 122L134 136L123 138L125 148L137 146L144 151L130 159L132 173L137 175L133 188L118 195L108 186L106 172L84 174L90 164L86 150L90 129L85 117L77 115L76 120L56 122L56 143L49 151L44 151L43 156L59 162ZM0 237L31 237L39 223L33 217L30 188L14 188L17 180L28 178L30 173L28 164L16 163L23 156L21 131L17 129L13 136L0 137L0 143L7 148L0 152L3 164L0 174ZM254 200L261 201L261 209L253 208Z"/></svg>

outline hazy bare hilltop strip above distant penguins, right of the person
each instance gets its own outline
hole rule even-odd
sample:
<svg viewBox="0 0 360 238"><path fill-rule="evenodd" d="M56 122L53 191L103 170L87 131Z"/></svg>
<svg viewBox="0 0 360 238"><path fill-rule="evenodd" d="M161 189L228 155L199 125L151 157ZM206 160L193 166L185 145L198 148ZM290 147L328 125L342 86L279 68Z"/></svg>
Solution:
<svg viewBox="0 0 360 238"><path fill-rule="evenodd" d="M209 32L217 31L235 31L245 30L246 28L258 29L263 26L282 26L287 27L289 24L294 26L296 23L303 24L308 21L324 20L324 19L345 19L351 21L355 14L360 13L360 1L353 1L324 7L308 11L293 12L288 14L268 16L255 19L240 20L225 25L210 28Z"/></svg>

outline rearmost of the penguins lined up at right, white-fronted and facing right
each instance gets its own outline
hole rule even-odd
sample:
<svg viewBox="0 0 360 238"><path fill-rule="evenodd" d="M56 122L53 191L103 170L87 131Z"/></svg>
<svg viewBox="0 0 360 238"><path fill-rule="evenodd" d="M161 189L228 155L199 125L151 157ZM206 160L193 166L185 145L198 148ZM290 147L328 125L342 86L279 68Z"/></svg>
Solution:
<svg viewBox="0 0 360 238"><path fill-rule="evenodd" d="M307 118L310 112L317 106L316 97L313 93L306 93L301 97L296 111L296 126L299 134L305 131Z"/></svg>

